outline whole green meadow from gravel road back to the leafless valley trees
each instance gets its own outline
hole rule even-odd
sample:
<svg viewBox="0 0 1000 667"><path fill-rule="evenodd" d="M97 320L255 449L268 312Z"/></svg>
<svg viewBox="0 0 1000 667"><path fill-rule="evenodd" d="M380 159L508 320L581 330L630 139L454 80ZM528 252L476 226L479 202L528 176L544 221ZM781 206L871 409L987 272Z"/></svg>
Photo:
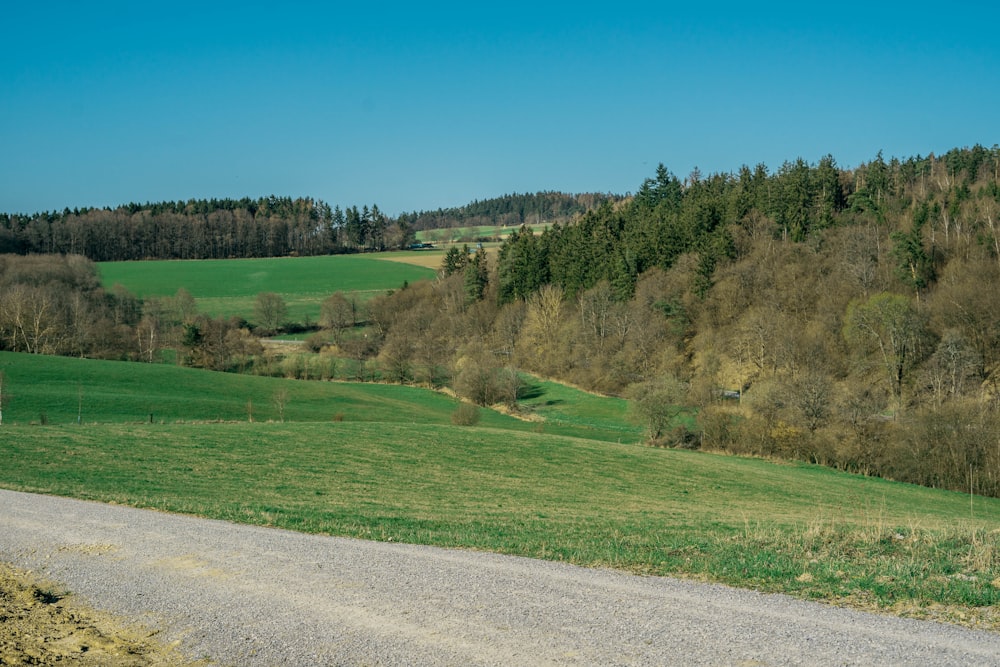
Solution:
<svg viewBox="0 0 1000 667"><path fill-rule="evenodd" d="M573 408L539 381L551 422L465 427L454 399L410 387L10 353L0 370L5 488L1000 629L1000 501L586 435L634 428L615 399Z"/></svg>

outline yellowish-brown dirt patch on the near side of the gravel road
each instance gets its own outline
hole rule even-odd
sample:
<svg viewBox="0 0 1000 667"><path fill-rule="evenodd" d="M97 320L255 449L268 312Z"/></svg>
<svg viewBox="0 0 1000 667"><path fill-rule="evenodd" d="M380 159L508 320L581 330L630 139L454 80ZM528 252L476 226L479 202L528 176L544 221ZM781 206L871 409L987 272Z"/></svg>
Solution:
<svg viewBox="0 0 1000 667"><path fill-rule="evenodd" d="M192 665L148 629L77 604L57 585L0 563L0 665Z"/></svg>

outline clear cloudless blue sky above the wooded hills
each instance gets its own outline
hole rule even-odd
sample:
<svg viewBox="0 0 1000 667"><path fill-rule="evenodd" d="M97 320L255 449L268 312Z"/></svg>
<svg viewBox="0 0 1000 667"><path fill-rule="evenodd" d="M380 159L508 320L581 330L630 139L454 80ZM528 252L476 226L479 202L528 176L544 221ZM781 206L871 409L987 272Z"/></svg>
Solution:
<svg viewBox="0 0 1000 667"><path fill-rule="evenodd" d="M0 211L397 214L1000 142L995 2L674 4L9 2Z"/></svg>

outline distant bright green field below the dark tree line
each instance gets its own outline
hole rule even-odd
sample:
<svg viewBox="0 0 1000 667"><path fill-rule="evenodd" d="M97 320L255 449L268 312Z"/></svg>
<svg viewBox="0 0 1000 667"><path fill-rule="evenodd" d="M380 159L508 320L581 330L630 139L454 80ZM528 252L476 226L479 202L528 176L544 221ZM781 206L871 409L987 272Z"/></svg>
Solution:
<svg viewBox="0 0 1000 667"><path fill-rule="evenodd" d="M183 287L203 312L251 321L257 295L274 292L284 298L289 319L295 322L307 316L318 320L320 303L334 292L366 300L435 275L433 269L384 261L378 255L102 262L98 269L106 287L120 284L139 297L173 296Z"/></svg>

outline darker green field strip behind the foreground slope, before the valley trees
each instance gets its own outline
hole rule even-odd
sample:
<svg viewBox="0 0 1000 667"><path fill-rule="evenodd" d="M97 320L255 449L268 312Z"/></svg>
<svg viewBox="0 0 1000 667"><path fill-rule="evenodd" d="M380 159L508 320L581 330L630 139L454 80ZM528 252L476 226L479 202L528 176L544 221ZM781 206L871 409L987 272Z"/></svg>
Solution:
<svg viewBox="0 0 1000 667"><path fill-rule="evenodd" d="M318 358L322 361L322 358ZM0 352L3 421L85 424L205 421L377 421L449 424L458 401L440 392L393 384L290 380L219 373L166 364L97 361ZM492 428L638 442L622 421L620 399L539 383L532 400L562 406L551 422L529 422L479 410ZM574 410L571 406L580 404ZM564 414L586 418L566 418Z"/></svg>

